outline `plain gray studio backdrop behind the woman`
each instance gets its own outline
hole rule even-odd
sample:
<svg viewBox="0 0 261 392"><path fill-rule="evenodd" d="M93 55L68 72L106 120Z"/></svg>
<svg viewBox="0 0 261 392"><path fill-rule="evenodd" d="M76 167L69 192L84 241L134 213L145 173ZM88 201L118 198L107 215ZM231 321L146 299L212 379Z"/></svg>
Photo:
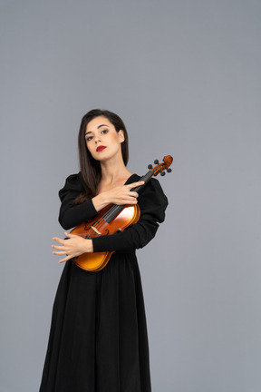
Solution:
<svg viewBox="0 0 261 392"><path fill-rule="evenodd" d="M0 11L1 392L38 390L63 270L57 192L96 107L126 122L131 171L174 157L167 219L138 252L153 391L260 392L260 1Z"/></svg>

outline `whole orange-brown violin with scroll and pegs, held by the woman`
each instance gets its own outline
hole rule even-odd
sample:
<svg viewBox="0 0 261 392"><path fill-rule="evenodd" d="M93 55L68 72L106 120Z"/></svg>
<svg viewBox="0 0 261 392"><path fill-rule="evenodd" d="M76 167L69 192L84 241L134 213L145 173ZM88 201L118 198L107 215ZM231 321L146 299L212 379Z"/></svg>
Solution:
<svg viewBox="0 0 261 392"><path fill-rule="evenodd" d="M131 191L139 192L140 188L146 185L152 176L157 176L159 173L163 176L165 171L171 171L169 166L173 162L173 158L167 155L163 158L163 162L154 161L156 164L148 166L150 169L140 181L144 181L143 185L132 188ZM83 222L75 227L71 233L80 235L84 239L92 240L92 238L104 235L114 234L116 231L123 231L127 227L137 223L140 219L140 207L138 204L134 205L117 205L110 204L103 208L99 214L89 222ZM102 270L111 259L113 251L102 251L93 253L82 253L77 258L73 258L73 262L82 270L96 272Z"/></svg>

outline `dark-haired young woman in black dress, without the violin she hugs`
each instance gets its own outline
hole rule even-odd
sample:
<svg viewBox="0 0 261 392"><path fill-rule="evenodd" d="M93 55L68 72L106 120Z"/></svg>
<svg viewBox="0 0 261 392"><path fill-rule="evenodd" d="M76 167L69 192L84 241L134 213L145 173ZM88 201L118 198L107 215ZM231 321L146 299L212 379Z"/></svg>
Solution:
<svg viewBox="0 0 261 392"><path fill-rule="evenodd" d="M109 111L85 114L79 132L81 171L59 191L59 221L69 230L92 220L108 204L140 206L140 220L112 235L83 239L54 237L53 254L66 261L53 304L40 392L150 392L149 347L140 271L135 250L145 246L168 205L160 182L142 185L126 168L128 134ZM138 197L139 196L139 197ZM72 258L112 251L98 272L82 270Z"/></svg>

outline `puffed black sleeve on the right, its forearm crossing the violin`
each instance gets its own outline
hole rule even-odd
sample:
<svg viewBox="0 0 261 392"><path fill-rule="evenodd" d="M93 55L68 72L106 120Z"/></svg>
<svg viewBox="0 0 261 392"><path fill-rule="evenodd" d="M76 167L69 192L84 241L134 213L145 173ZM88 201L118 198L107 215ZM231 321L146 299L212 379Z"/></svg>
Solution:
<svg viewBox="0 0 261 392"><path fill-rule="evenodd" d="M131 182L139 181L139 177ZM140 191L138 198L140 220L133 226L115 234L92 239L93 251L122 251L143 248L156 234L159 223L165 219L168 199L163 193L160 182L151 179Z"/></svg>

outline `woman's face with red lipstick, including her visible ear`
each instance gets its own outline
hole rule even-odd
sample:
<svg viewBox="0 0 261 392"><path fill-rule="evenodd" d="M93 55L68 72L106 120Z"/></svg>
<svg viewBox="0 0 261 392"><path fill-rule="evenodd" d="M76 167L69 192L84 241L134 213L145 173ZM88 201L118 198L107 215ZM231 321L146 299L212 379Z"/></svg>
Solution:
<svg viewBox="0 0 261 392"><path fill-rule="evenodd" d="M106 117L99 116L88 122L85 141L92 157L97 161L105 162L111 158L121 158L121 142L124 142L124 132L117 132Z"/></svg>

